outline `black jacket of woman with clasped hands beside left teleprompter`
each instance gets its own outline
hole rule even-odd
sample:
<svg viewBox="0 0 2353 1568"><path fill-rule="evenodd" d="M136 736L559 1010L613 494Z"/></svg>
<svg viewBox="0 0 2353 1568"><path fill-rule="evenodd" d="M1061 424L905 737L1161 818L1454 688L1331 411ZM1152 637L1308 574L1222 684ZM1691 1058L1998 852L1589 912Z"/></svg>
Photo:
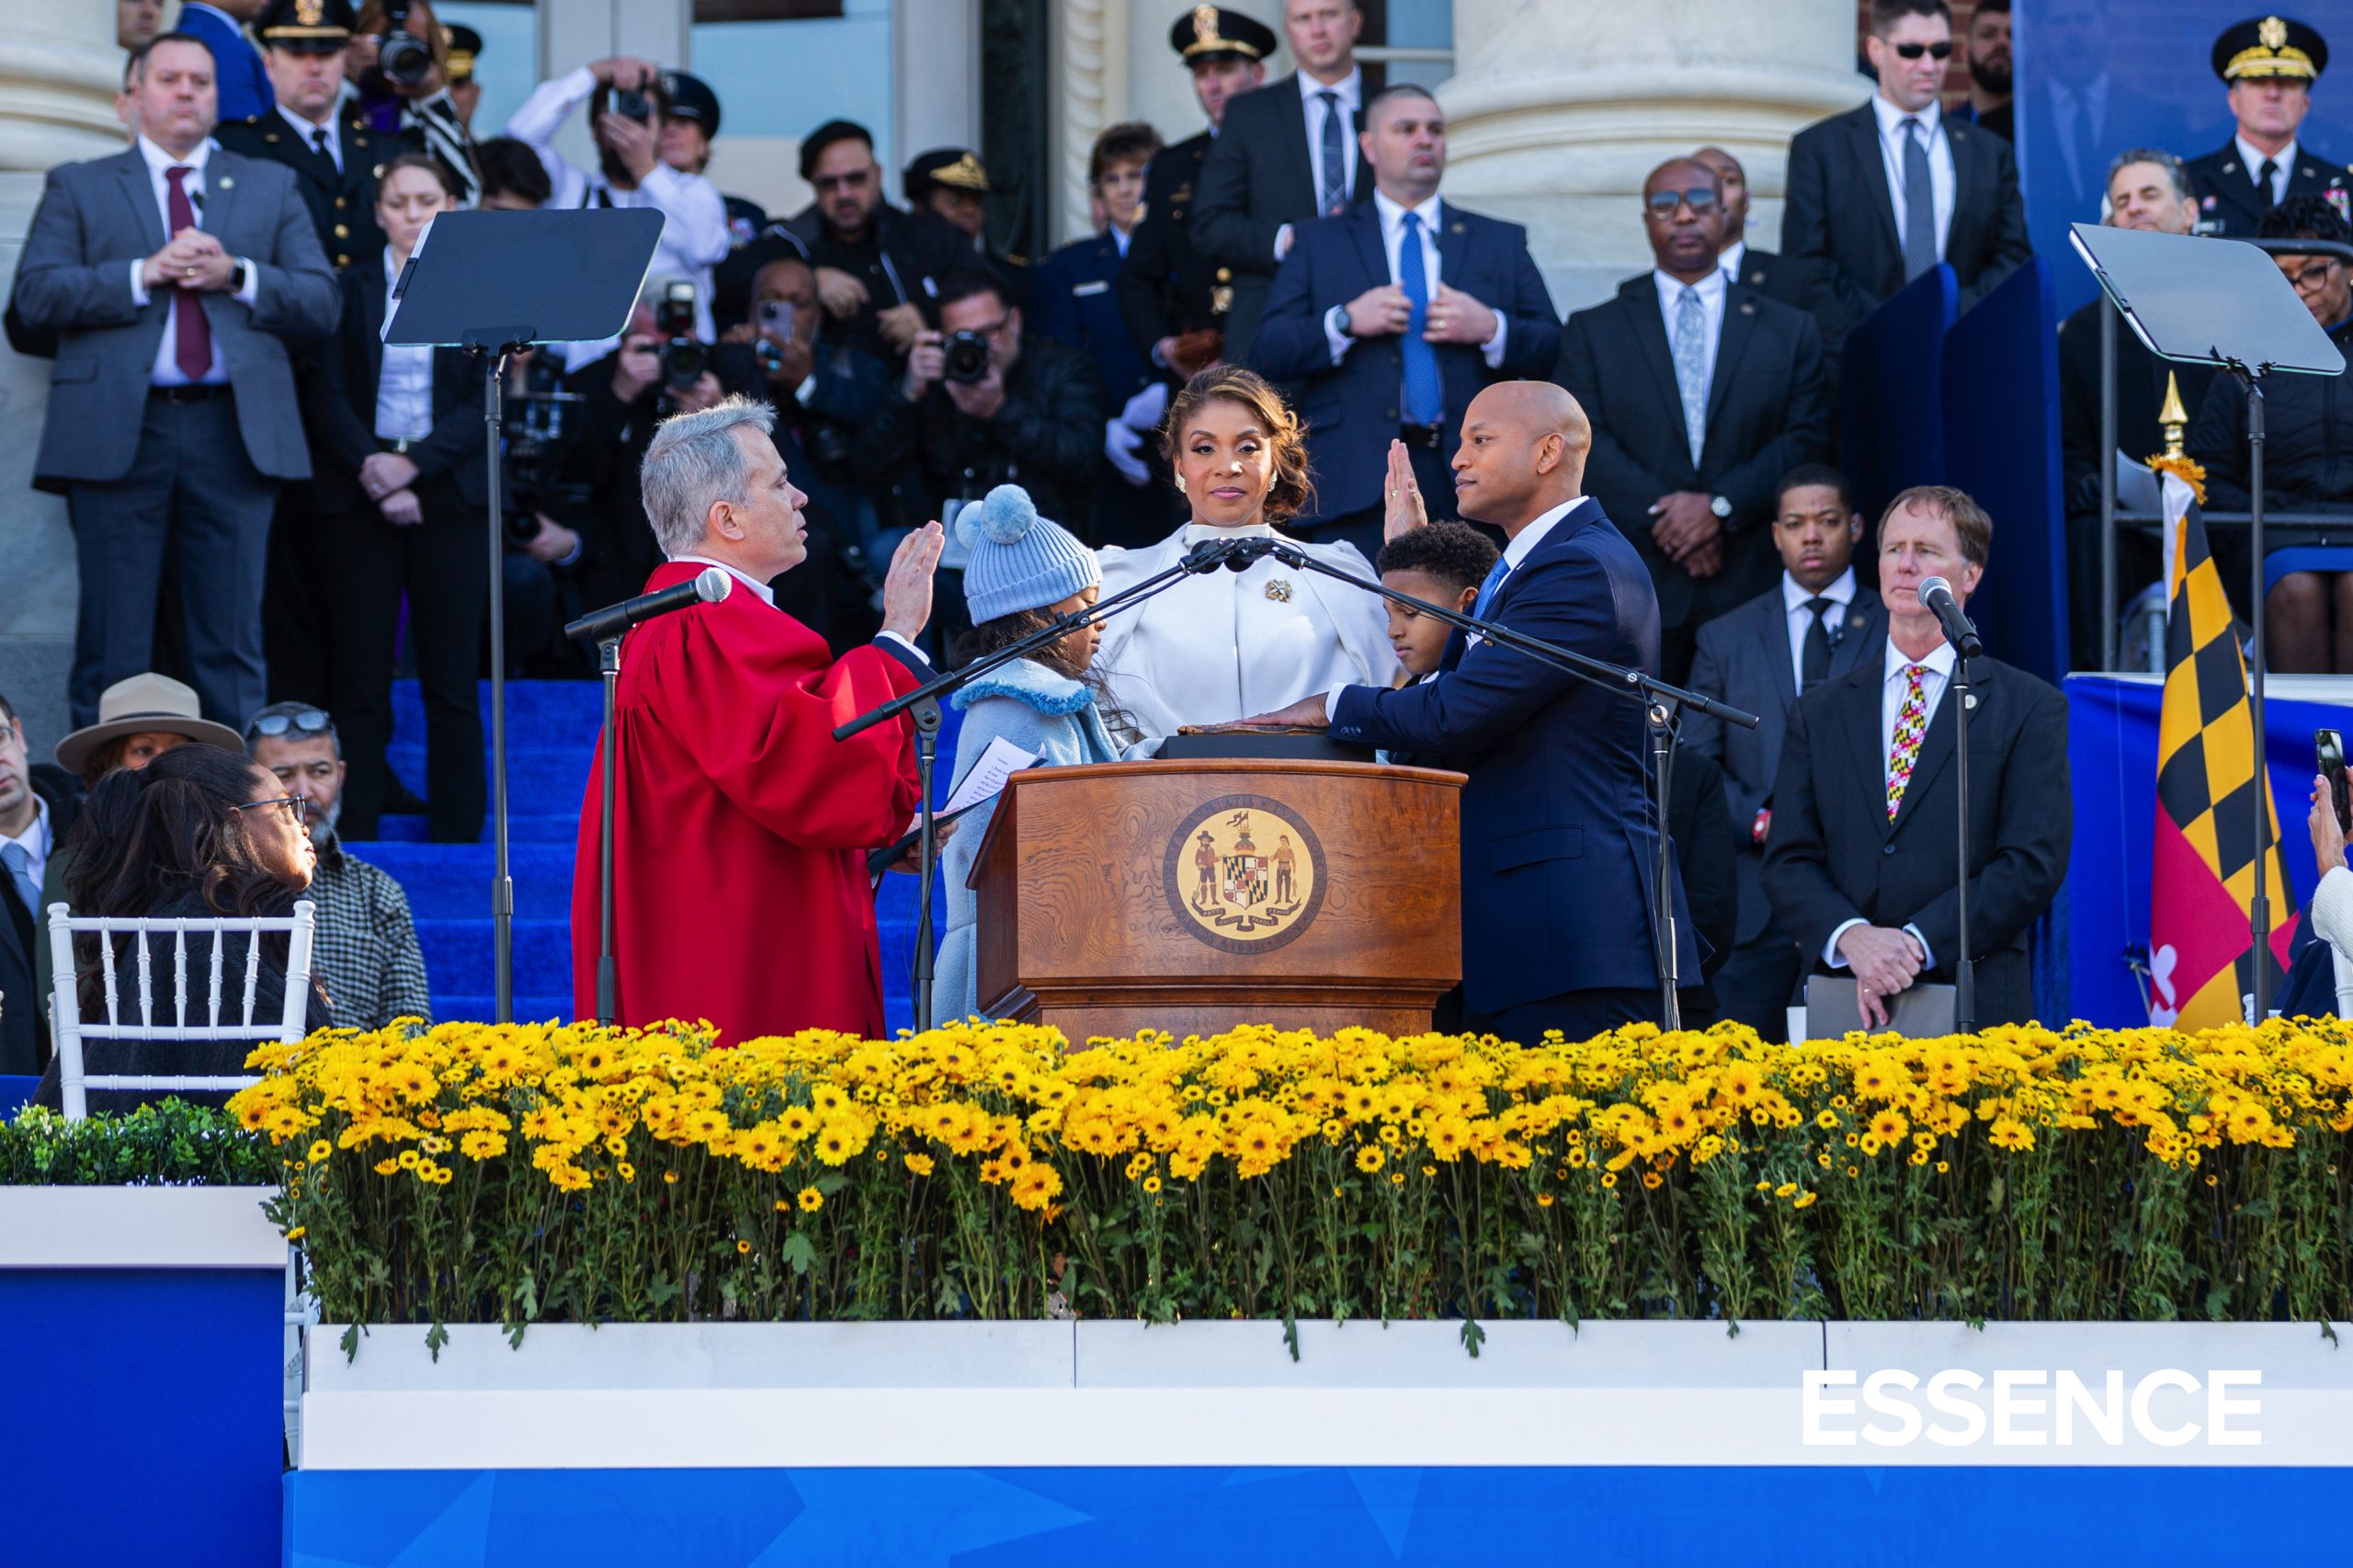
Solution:
<svg viewBox="0 0 2353 1568"><path fill-rule="evenodd" d="M320 346L318 374L304 384L320 466L311 494L320 511L362 501L360 464L376 452L376 381L384 374L384 261L341 275L344 323ZM433 351L433 433L409 443L419 480L449 476L468 506L489 506L482 464L482 360L461 348Z"/></svg>

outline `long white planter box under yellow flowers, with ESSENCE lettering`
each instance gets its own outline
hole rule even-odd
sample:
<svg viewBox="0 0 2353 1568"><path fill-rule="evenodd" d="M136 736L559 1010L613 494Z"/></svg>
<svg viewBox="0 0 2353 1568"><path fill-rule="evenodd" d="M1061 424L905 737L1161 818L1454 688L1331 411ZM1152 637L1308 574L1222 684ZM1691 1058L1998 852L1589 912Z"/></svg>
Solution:
<svg viewBox="0 0 2353 1568"><path fill-rule="evenodd" d="M2353 1349L2308 1323L1485 1330L1473 1358L1461 1323L1299 1323L1294 1361L1280 1323L546 1326L520 1349L452 1326L435 1363L421 1326L353 1361L322 1326L304 1467L2353 1464ZM1901 1443L1861 1403L1889 1370L1915 1384ZM2113 1439L2080 1417L2052 1441L2061 1373L2120 1377ZM2137 1406L2155 1373L2188 1387ZM1925 1431L1967 1431L1925 1403L1939 1375L1981 1417L1967 1441Z"/></svg>

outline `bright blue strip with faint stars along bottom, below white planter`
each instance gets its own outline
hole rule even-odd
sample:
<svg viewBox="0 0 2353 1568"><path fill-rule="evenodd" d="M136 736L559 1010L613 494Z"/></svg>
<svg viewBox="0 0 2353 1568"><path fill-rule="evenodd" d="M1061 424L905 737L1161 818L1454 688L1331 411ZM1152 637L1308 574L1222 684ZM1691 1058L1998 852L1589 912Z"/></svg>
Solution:
<svg viewBox="0 0 2353 1568"><path fill-rule="evenodd" d="M2337 1476L2334 1481L2329 1476ZM2334 1469L296 1471L287 1568L2322 1561ZM1727 1526L1727 1521L1739 1521ZM1567 1547L1565 1542L1574 1542Z"/></svg>

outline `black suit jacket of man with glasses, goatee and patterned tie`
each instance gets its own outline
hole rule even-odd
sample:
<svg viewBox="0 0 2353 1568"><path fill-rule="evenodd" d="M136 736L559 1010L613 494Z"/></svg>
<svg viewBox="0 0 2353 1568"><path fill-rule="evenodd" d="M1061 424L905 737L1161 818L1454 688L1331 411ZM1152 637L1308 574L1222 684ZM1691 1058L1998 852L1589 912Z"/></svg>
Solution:
<svg viewBox="0 0 2353 1568"><path fill-rule="evenodd" d="M1593 421L1586 494L1602 504L1642 553L1659 586L1659 624L1713 619L1765 586L1772 506L1781 476L1831 452L1831 372L1821 332L1798 308L1725 290L1725 327L1708 381L1708 428L1692 464L1682 393L1652 273L1628 278L1617 299L1569 315L1553 377ZM1732 501L1725 567L1694 579L1649 534L1649 506L1673 490Z"/></svg>

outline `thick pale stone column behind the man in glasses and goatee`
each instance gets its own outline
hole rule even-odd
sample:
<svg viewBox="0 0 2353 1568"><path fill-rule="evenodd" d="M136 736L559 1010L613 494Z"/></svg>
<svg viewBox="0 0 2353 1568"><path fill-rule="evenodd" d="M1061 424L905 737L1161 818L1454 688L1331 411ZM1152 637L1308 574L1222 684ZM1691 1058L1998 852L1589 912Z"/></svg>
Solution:
<svg viewBox="0 0 2353 1568"><path fill-rule="evenodd" d="M1748 170L1751 245L1779 250L1791 134L1868 94L1854 0L1454 0L1445 188L1527 224L1574 311L1649 266L1642 179L1711 141Z"/></svg>

